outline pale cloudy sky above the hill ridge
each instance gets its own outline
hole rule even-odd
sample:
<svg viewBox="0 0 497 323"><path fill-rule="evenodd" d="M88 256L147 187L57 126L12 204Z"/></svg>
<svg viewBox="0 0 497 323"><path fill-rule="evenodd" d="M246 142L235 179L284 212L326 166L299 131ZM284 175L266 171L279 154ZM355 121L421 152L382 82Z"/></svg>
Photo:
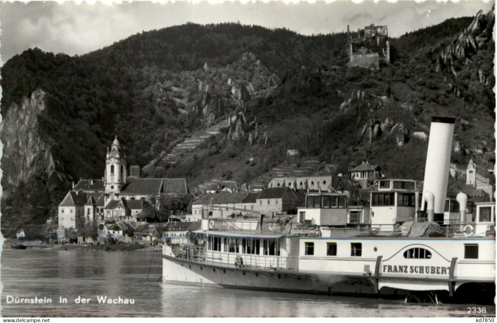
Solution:
<svg viewBox="0 0 497 323"><path fill-rule="evenodd" d="M451 17L488 12L494 1L459 2L315 1L162 2L134 1L94 4L75 2L1 2L0 54L3 62L28 48L82 55L130 35L168 26L237 22L268 28L286 27L301 34L318 34L388 25L398 37Z"/></svg>

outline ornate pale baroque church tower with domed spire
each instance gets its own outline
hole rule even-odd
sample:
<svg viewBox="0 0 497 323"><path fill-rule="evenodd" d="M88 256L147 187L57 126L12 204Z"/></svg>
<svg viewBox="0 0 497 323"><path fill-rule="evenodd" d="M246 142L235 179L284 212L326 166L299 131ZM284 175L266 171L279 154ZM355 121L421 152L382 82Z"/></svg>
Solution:
<svg viewBox="0 0 497 323"><path fill-rule="evenodd" d="M126 184L126 155L121 149L117 136L112 146L107 147L105 159L105 195L106 200L116 200Z"/></svg>

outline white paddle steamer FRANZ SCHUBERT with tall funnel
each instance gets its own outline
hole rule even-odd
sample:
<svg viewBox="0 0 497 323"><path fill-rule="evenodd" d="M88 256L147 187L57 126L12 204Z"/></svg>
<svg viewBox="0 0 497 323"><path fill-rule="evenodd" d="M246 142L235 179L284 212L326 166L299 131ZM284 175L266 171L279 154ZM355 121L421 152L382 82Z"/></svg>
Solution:
<svg viewBox="0 0 497 323"><path fill-rule="evenodd" d="M163 281L493 303L495 202L473 214L459 193L458 216L444 216L454 121L432 119L422 191L414 180L380 180L369 206L310 192L283 218L215 217L220 206L207 206L191 243L163 245Z"/></svg>

